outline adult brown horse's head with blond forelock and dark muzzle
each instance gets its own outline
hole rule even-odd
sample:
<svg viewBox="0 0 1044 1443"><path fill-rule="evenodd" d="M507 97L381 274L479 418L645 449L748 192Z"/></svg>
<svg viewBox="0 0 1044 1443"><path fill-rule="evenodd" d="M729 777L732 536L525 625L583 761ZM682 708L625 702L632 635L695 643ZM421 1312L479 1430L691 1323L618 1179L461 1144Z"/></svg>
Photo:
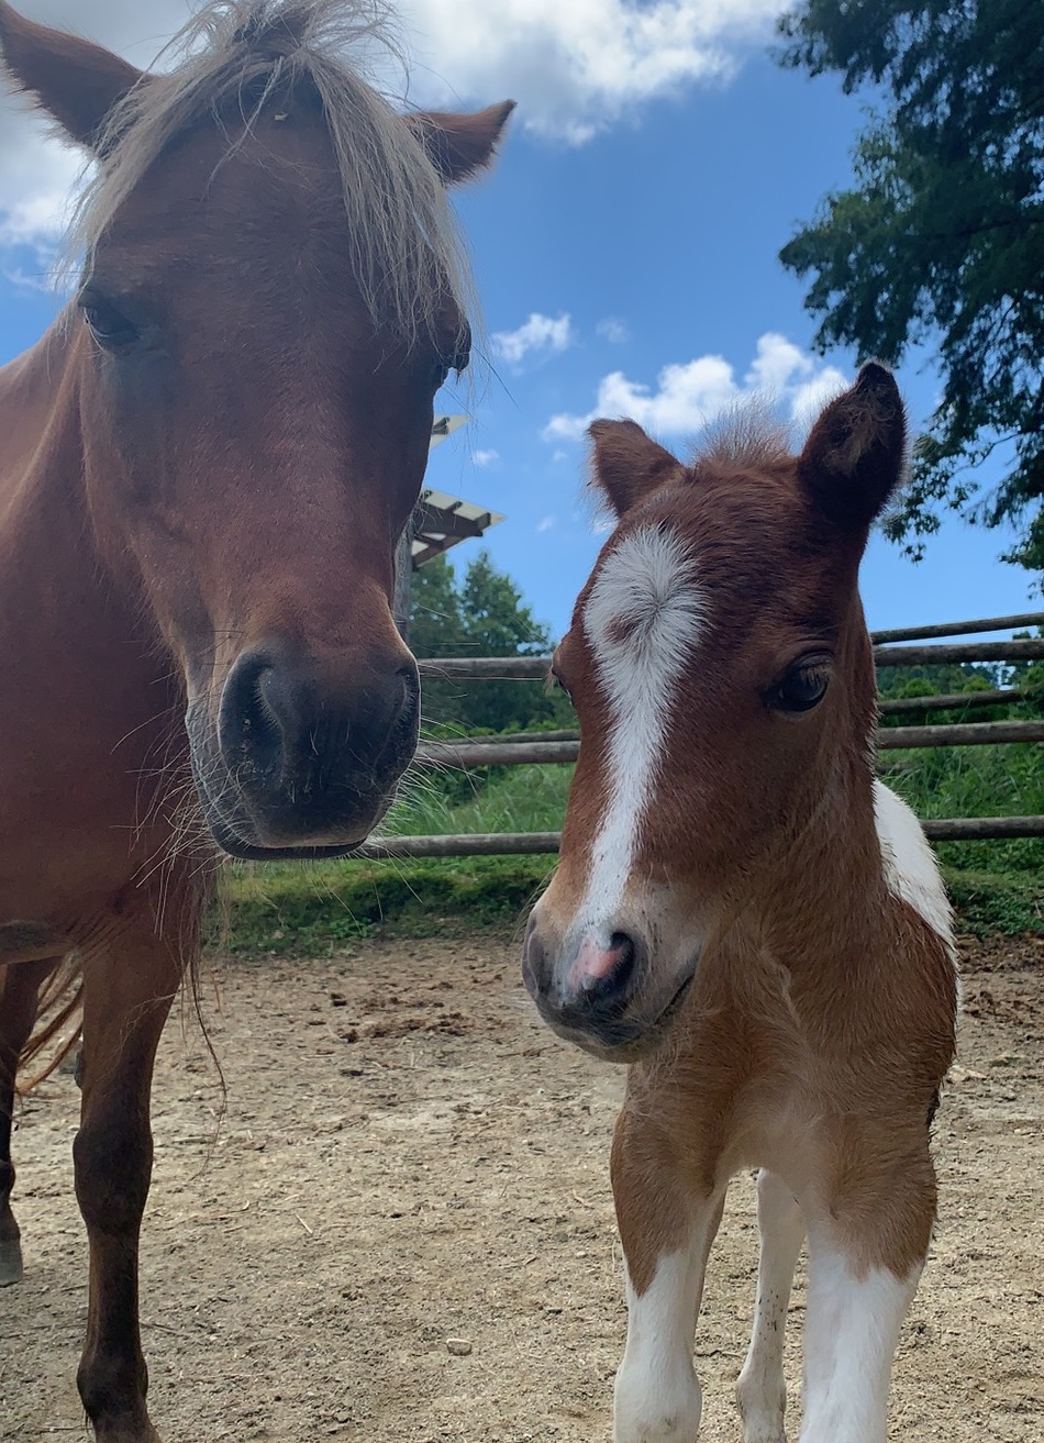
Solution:
<svg viewBox="0 0 1044 1443"><path fill-rule="evenodd" d="M391 596L469 359L446 188L512 107L397 114L339 53L379 30L378 0L213 0L144 75L0 0L16 85L98 160L71 312L95 547L183 672L236 856L356 844L417 737Z"/></svg>

